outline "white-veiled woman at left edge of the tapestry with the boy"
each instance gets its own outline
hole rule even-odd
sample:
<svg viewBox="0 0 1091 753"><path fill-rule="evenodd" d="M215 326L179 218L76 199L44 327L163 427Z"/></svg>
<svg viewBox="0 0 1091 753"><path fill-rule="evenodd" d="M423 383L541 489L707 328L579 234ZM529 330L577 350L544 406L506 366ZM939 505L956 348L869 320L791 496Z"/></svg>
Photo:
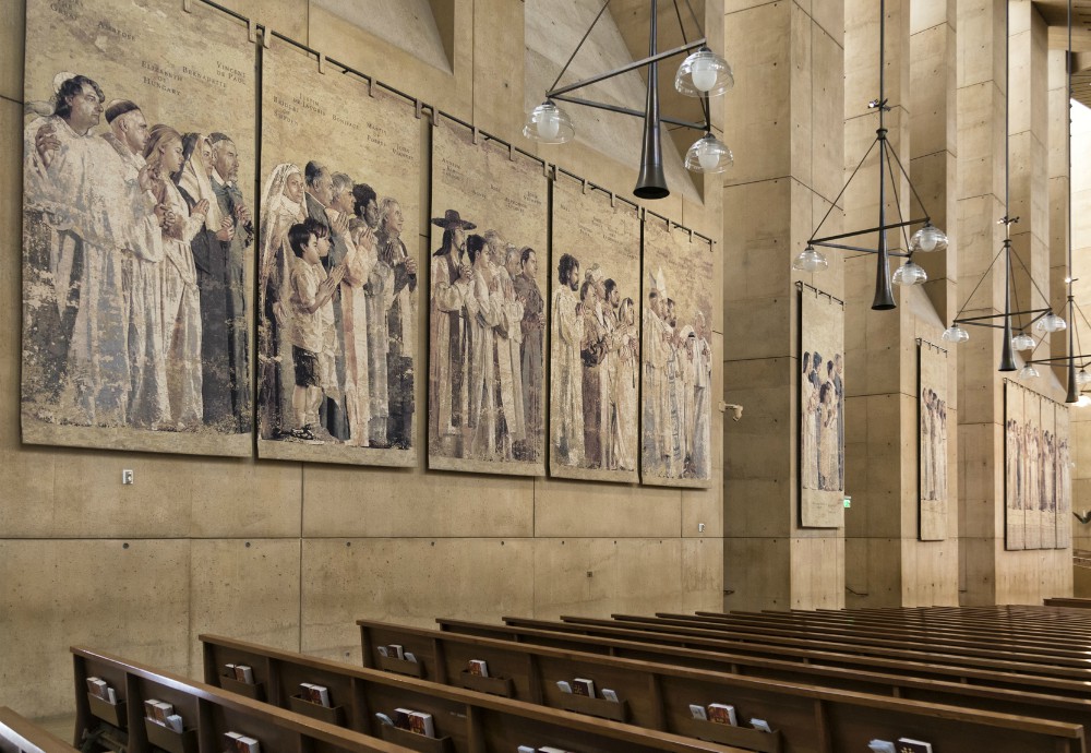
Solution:
<svg viewBox="0 0 1091 753"><path fill-rule="evenodd" d="M277 165L262 191L262 225L259 232L257 295L262 321L257 335L259 431L262 439L276 439L290 429L295 384L291 348L286 335L286 302L289 261L288 228L307 219L303 175L290 163ZM287 356L287 357L286 357Z"/></svg>

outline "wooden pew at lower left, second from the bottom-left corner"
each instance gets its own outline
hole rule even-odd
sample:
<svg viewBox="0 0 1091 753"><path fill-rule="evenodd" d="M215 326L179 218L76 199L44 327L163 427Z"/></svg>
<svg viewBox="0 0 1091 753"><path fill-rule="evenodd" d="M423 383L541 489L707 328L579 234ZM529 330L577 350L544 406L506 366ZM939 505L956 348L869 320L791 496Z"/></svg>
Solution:
<svg viewBox="0 0 1091 753"><path fill-rule="evenodd" d="M134 661L73 646L75 664L76 741L106 729L120 736L127 753L235 753L225 734L239 732L257 740L262 753L409 753L411 748L384 742L311 717L160 672ZM87 691L97 677L117 693L109 704ZM184 724L181 733L145 719L144 702L172 704Z"/></svg>

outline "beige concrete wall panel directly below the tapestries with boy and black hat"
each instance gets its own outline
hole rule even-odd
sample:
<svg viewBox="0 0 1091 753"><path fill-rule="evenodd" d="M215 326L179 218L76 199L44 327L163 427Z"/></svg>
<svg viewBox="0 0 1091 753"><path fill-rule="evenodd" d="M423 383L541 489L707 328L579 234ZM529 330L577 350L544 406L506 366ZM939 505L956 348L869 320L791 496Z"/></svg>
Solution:
<svg viewBox="0 0 1091 753"><path fill-rule="evenodd" d="M303 473L304 536L533 535L529 478L316 465Z"/></svg>

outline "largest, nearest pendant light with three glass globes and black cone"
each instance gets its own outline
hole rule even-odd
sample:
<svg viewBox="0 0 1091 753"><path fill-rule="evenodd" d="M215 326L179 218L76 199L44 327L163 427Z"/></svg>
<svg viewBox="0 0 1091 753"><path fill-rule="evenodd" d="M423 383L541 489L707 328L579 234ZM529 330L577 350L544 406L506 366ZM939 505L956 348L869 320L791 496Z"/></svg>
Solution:
<svg viewBox="0 0 1091 753"><path fill-rule="evenodd" d="M564 68L561 69L556 80L553 82L553 85L550 86L549 91L546 93L546 100L530 111L530 115L527 117L527 123L523 129L523 135L546 144L564 144L572 141L575 135L575 127L573 125L572 119L568 115L556 104L559 101L583 105L585 107L595 107L597 109L609 110L611 112L621 112L622 115L644 118L644 134L640 147L640 170L639 176L637 177L636 188L633 189L633 193L640 199L664 199L670 195L670 189L667 186L667 176L663 172L662 123L681 125L683 128L704 132L704 135L695 141L693 146L691 146L686 152L686 169L693 172L723 172L731 167L734 162L731 150L729 150L722 141L712 135L712 123L708 99L709 97L715 97L727 92L734 85L735 80L731 74L731 65L728 64L728 61L708 48L707 39L700 31L700 22L697 21L697 15L694 13L693 7L690 4L690 0L684 0L684 2L690 9L690 15L693 17L698 33L702 34L699 39L692 43L686 39L685 25L682 23L682 12L679 8L679 0L673 0L674 12L679 20L679 28L682 31L683 45L681 47L675 47L660 52L658 50L658 0L650 0L650 16L648 21L648 57L635 60L627 65L622 65L621 68L612 71L607 71L606 73L600 73L589 79L577 81L574 84L558 86L561 82L561 77L564 75L565 71L568 70L568 65L572 64L573 59L576 57L576 53L579 52L579 48L584 46L584 43L590 35L591 29L595 28L595 25L599 22L599 19L602 17L602 14L610 5L610 0L607 0L602 4L602 8L599 9L598 15L595 16L595 21L591 22L587 32L584 33L579 44L576 45L576 49L573 50L572 55L568 57L568 61L564 64ZM678 73L674 76L674 88L680 94L700 99L702 112L705 118L704 122L679 120L676 118L662 116L659 111L659 61L682 55L683 52L690 52L691 50L693 51L688 57L686 57L685 60L682 61L682 64L679 67ZM601 81L606 81L621 75L622 73L627 73L640 68L648 69L647 96L645 98L643 111L621 107L619 105L591 101L589 99L574 97L571 94L576 89L590 86L591 84L597 84Z"/></svg>

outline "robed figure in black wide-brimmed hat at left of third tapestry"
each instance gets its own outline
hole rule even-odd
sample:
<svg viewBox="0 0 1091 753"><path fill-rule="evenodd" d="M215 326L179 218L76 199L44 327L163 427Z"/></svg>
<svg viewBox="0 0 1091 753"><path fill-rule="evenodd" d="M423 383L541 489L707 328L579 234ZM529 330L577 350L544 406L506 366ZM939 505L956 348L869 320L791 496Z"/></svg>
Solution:
<svg viewBox="0 0 1091 753"><path fill-rule="evenodd" d="M431 451L460 456L469 366L465 304L472 278L464 254L466 231L477 225L463 219L457 210L433 217L432 224L443 228L443 242L432 254L429 441Z"/></svg>

